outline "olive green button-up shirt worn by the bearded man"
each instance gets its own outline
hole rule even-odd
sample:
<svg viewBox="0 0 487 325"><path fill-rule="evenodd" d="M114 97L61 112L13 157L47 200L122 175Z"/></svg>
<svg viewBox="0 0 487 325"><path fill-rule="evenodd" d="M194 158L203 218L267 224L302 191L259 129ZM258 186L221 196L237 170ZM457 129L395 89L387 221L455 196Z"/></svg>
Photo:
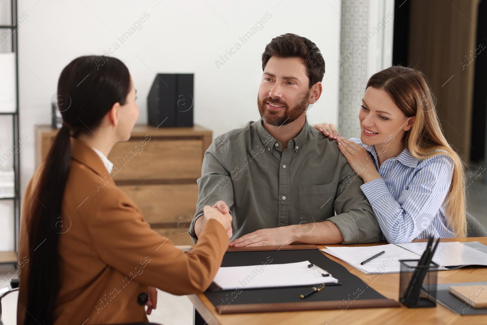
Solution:
<svg viewBox="0 0 487 325"><path fill-rule="evenodd" d="M205 205L223 200L233 217L233 239L258 229L305 225L329 220L342 244L378 242L381 232L357 177L330 140L307 119L300 134L282 145L262 126L243 128L215 138L205 153L196 214L189 234L196 242L196 219ZM336 215L335 215L336 212Z"/></svg>

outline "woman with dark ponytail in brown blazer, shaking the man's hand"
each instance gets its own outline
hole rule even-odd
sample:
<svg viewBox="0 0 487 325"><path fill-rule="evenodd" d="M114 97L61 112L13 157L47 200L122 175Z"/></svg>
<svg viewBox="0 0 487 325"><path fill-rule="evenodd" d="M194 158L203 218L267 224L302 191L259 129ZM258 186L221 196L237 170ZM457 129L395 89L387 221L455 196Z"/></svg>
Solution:
<svg viewBox="0 0 487 325"><path fill-rule="evenodd" d="M61 72L57 94L62 128L22 203L18 325L147 322L141 300L149 296L150 314L154 287L203 292L231 236L225 203L205 207L204 233L185 254L106 178L110 150L130 138L139 115L127 67L78 57Z"/></svg>

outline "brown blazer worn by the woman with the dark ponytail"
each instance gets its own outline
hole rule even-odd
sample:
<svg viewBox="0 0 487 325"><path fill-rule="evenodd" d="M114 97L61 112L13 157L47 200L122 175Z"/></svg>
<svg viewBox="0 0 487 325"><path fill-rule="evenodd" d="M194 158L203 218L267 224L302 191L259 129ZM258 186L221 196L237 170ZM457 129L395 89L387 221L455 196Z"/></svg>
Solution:
<svg viewBox="0 0 487 325"><path fill-rule="evenodd" d="M61 286L55 324L147 321L136 298L147 292L148 286L176 295L205 291L229 244L223 226L209 220L196 247L185 254L150 229L90 147L75 138L71 144L71 167L61 208L69 218L64 218L60 227ZM36 200L33 195L41 169L34 173L22 203L18 325L23 324L28 294L30 221L26 209Z"/></svg>

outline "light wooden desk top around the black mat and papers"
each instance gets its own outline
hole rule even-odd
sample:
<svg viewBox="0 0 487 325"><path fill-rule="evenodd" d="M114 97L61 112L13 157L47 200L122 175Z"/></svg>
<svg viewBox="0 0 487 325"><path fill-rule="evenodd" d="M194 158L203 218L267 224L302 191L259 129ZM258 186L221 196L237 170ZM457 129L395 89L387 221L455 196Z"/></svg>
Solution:
<svg viewBox="0 0 487 325"><path fill-rule="evenodd" d="M415 240L418 242L426 240ZM450 238L442 239L449 242L470 242L478 241L487 245L487 237L475 238ZM351 246L372 246L383 245L385 242L375 244L359 244ZM340 246L340 245L327 245ZM324 245L318 245L320 249ZM323 253L324 254L324 253ZM362 281L370 284L370 287L386 296L387 298L398 301L399 295L399 273L381 274L374 279L372 274L364 274L342 262L340 259L326 255L332 260L340 263L352 274L358 276ZM452 271L438 271L438 284L459 283L459 282L480 282L487 280L487 268L462 268ZM296 324L438 324L438 325L457 325L457 324L487 324L487 315L460 316L449 309L437 304L436 308L364 308L347 310L316 310L316 311L292 311L292 312L268 312L268 313L245 313L245 314L218 314L215 307L206 299L204 294L189 295L189 300L193 303L196 310L200 313L208 325L296 325Z"/></svg>

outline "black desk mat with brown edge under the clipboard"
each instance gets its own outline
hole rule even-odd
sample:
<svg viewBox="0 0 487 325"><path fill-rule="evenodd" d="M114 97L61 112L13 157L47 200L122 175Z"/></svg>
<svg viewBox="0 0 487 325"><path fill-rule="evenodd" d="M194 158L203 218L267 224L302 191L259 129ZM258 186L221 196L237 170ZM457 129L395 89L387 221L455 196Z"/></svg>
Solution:
<svg viewBox="0 0 487 325"><path fill-rule="evenodd" d="M206 291L205 295L220 313L400 306L399 303L387 299L369 287L318 249L226 252L222 267L301 261L310 261L326 269L338 279L341 285L326 286L305 299L301 299L300 294L311 286Z"/></svg>

